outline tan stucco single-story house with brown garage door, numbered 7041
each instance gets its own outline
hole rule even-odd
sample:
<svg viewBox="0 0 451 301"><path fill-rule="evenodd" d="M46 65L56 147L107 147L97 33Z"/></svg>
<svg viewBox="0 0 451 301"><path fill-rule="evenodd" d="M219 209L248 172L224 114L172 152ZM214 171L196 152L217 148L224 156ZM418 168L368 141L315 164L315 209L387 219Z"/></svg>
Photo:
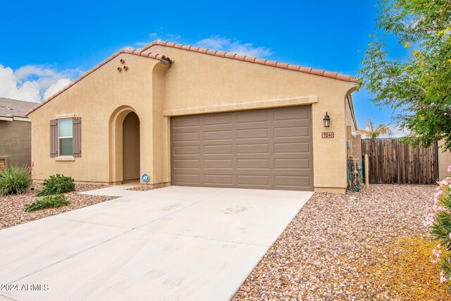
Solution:
<svg viewBox="0 0 451 301"><path fill-rule="evenodd" d="M35 175L345 192L356 82L159 40L124 49L28 112Z"/></svg>

